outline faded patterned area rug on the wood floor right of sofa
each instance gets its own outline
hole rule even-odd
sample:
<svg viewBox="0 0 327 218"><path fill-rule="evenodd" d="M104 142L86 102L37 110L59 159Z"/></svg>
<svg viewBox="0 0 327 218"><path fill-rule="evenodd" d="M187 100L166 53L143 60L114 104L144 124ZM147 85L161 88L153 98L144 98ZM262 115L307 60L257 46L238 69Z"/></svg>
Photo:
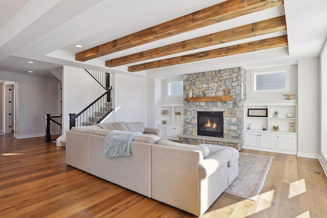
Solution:
<svg viewBox="0 0 327 218"><path fill-rule="evenodd" d="M240 152L239 175L224 192L256 201L263 188L272 157Z"/></svg>

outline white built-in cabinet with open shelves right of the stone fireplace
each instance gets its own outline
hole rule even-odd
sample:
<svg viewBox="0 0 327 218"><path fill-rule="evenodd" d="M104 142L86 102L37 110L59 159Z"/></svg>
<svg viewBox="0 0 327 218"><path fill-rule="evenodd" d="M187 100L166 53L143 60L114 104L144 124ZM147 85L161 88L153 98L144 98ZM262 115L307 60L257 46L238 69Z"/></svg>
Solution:
<svg viewBox="0 0 327 218"><path fill-rule="evenodd" d="M268 113L266 117L253 117L248 116L248 109L267 109ZM276 110L278 117L274 117ZM293 117L287 117L288 113L292 113ZM295 123L294 132L290 131L290 123ZM279 131L274 131L273 126L278 126ZM296 155L297 100L244 101L243 134L245 149Z"/></svg>

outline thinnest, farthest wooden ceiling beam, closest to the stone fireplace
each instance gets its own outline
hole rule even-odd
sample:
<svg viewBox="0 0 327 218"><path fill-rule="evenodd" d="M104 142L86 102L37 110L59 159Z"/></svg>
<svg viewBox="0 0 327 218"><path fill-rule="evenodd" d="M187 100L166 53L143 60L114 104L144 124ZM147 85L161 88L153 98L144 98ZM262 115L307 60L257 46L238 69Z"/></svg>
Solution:
<svg viewBox="0 0 327 218"><path fill-rule="evenodd" d="M154 68L172 66L177 64L184 64L184 63L190 63L195 61L202 61L202 60L208 60L213 58L239 55L239 54L262 51L267 49L274 49L276 47L283 47L283 46L288 46L286 35L257 40L253 42L246 42L237 45L231 45L227 47L222 47L220 49L198 52L190 55L183 55L183 56L169 58L165 60L159 60L159 61L153 61L144 64L138 64L134 66L129 66L128 71L136 72L141 70L154 69Z"/></svg>

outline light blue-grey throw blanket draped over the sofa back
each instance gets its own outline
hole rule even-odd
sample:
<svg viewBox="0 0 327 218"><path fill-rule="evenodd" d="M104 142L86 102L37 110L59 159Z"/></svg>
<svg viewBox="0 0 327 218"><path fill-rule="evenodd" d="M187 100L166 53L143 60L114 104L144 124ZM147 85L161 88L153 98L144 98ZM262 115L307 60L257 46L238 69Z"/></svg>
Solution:
<svg viewBox="0 0 327 218"><path fill-rule="evenodd" d="M124 132L112 130L106 136L104 157L122 157L132 154L131 143L141 132Z"/></svg>

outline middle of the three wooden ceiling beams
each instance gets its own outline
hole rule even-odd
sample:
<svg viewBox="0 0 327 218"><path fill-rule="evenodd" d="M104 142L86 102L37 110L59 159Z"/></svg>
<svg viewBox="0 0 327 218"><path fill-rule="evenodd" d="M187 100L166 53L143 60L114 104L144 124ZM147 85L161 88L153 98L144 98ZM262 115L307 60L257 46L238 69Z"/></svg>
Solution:
<svg viewBox="0 0 327 218"><path fill-rule="evenodd" d="M280 16L242 27L157 47L148 51L107 60L105 65L106 67L115 67L284 30L286 30L285 16Z"/></svg>

